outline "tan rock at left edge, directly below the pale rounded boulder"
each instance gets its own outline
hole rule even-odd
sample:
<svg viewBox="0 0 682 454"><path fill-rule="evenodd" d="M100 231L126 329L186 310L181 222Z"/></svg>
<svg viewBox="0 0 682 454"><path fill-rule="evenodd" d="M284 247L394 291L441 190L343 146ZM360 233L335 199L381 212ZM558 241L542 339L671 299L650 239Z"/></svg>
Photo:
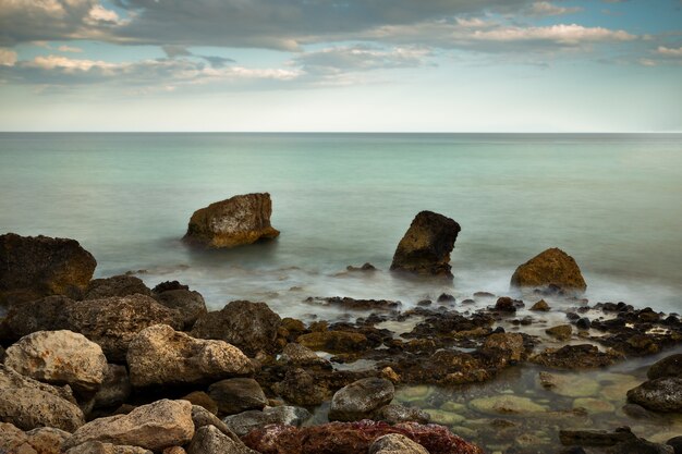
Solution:
<svg viewBox="0 0 682 454"><path fill-rule="evenodd" d="M0 420L22 430L53 427L74 431L84 422L70 389L23 377L0 365Z"/></svg>

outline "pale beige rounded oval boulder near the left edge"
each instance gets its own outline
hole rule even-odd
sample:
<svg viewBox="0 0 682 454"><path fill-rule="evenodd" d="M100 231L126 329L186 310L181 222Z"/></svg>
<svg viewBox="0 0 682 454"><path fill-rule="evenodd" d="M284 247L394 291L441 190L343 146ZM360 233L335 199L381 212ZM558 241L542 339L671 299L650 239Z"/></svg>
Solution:
<svg viewBox="0 0 682 454"><path fill-rule="evenodd" d="M75 390L95 391L105 380L101 347L71 331L37 331L7 351L5 366L23 376Z"/></svg>

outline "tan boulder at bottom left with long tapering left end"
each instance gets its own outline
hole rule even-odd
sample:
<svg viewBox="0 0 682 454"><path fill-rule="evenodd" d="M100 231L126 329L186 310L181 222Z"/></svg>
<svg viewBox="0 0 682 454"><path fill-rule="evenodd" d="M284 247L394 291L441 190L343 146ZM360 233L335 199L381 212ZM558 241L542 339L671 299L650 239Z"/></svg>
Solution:
<svg viewBox="0 0 682 454"><path fill-rule="evenodd" d="M142 405L127 415L95 419L76 430L62 449L101 441L161 451L169 446L181 446L192 437L192 404L187 401L161 400Z"/></svg>

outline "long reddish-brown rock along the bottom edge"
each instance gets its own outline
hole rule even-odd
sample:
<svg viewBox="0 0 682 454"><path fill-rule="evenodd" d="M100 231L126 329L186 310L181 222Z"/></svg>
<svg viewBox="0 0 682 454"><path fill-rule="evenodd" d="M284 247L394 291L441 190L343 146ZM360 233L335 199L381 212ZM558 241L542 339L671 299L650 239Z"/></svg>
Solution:
<svg viewBox="0 0 682 454"><path fill-rule="evenodd" d="M261 454L358 454L367 453L375 440L389 433L405 435L430 454L483 454L480 447L453 435L446 427L410 422L390 426L364 420L300 429L272 425L252 431L243 441Z"/></svg>

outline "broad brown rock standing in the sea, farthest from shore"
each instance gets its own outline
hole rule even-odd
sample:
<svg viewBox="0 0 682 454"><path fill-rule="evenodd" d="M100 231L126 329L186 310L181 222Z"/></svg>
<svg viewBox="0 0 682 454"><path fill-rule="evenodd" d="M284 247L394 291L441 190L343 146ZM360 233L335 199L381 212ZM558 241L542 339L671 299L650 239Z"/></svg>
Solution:
<svg viewBox="0 0 682 454"><path fill-rule="evenodd" d="M234 247L272 240L279 231L270 225L272 201L268 193L234 196L196 210L185 240L206 247Z"/></svg>

